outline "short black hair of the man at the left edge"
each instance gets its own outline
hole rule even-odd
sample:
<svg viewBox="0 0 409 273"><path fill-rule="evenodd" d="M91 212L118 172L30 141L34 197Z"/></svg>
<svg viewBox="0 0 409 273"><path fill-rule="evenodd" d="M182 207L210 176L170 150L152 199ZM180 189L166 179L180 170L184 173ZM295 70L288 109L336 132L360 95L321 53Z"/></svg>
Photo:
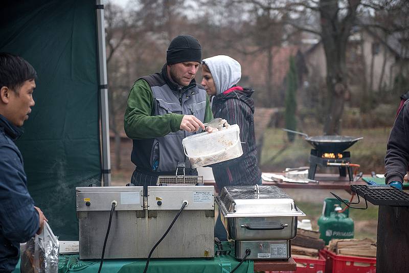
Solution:
<svg viewBox="0 0 409 273"><path fill-rule="evenodd" d="M28 61L13 54L0 52L0 88L7 86L18 92L25 81L36 78L37 73Z"/></svg>

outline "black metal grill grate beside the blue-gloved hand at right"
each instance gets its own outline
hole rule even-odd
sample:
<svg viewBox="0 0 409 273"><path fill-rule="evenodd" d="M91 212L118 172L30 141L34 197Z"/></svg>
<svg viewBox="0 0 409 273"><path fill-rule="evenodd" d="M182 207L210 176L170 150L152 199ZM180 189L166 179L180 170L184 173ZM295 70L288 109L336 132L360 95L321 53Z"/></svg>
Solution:
<svg viewBox="0 0 409 273"><path fill-rule="evenodd" d="M351 190L374 205L409 207L409 194L388 185L351 185Z"/></svg>

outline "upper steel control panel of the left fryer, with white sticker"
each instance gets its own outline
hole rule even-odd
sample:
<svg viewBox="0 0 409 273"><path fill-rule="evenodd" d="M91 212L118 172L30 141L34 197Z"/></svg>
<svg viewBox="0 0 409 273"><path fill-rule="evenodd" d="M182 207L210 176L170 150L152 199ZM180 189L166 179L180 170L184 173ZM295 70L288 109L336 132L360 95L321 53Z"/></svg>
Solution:
<svg viewBox="0 0 409 273"><path fill-rule="evenodd" d="M78 187L77 211L110 211L117 201L116 211L143 210L143 187Z"/></svg>

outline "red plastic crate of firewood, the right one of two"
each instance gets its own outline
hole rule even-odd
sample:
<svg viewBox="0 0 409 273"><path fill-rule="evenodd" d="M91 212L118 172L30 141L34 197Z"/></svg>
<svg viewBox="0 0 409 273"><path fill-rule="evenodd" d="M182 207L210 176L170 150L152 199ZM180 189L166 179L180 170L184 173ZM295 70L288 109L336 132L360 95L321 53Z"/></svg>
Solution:
<svg viewBox="0 0 409 273"><path fill-rule="evenodd" d="M376 258L336 255L327 249L320 253L326 258L325 273L375 273Z"/></svg>

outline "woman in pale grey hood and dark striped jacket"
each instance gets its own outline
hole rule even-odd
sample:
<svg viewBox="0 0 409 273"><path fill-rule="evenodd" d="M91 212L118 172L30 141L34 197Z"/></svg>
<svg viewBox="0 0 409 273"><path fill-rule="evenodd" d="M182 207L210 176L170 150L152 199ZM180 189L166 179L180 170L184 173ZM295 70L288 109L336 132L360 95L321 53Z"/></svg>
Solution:
<svg viewBox="0 0 409 273"><path fill-rule="evenodd" d="M221 191L229 185L261 185L254 136L254 101L251 98L254 90L236 85L241 78L240 63L225 55L204 59L202 77L201 85L209 96L215 96L212 100L214 118L225 119L229 124L240 127L243 148L242 156L210 166L217 188Z"/></svg>

